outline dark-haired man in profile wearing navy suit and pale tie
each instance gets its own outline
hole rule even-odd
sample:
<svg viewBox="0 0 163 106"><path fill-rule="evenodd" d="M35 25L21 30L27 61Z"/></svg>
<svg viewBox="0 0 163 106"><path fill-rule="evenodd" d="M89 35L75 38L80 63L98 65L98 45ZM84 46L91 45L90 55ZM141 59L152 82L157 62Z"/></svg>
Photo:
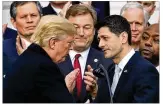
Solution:
<svg viewBox="0 0 163 106"><path fill-rule="evenodd" d="M158 71L131 47L128 21L119 15L108 16L97 30L99 47L106 58L113 59L115 68L108 68L111 91L103 79L94 102L109 103L112 97L113 103L158 103Z"/></svg>

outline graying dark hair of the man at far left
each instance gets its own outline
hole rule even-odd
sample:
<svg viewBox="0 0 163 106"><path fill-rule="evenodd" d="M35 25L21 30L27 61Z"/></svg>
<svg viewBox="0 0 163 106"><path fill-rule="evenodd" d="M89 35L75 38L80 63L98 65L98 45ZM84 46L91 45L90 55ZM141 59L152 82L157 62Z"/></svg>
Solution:
<svg viewBox="0 0 163 106"><path fill-rule="evenodd" d="M41 7L40 2L38 2L38 1L14 1L14 2L12 2L11 6L10 6L10 16L15 20L16 19L16 13L17 13L16 8L18 6L22 6L22 5L27 4L29 2L34 2L36 4L38 12L41 16L42 15L42 7Z"/></svg>

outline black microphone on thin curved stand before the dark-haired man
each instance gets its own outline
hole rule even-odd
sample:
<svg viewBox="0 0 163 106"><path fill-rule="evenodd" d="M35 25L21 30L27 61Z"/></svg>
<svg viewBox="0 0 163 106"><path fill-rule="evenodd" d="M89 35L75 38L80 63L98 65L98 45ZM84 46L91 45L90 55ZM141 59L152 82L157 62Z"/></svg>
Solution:
<svg viewBox="0 0 163 106"><path fill-rule="evenodd" d="M103 77L106 78L108 84L109 96L110 96L110 103L113 103L113 95L111 93L111 85L110 85L108 72L104 68L104 66L98 62L98 59L94 59L94 62L96 63L97 68L93 70L93 74L99 78L103 78Z"/></svg>

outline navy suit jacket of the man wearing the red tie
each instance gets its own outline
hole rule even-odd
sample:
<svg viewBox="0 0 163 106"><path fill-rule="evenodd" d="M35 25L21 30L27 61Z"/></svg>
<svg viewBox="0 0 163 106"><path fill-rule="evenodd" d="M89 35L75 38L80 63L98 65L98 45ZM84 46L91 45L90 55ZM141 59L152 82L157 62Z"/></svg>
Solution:
<svg viewBox="0 0 163 106"><path fill-rule="evenodd" d="M104 55L102 52L90 48L88 58L87 58L87 63L85 67L85 71L87 71L87 65L91 65L93 69L97 68L97 63L94 62L94 59L98 59L99 63L104 64L104 66L107 68L110 64L112 64L111 59L104 59ZM58 66L60 67L62 73L64 76L66 76L68 73L74 70L72 66L72 62L69 56L67 56L66 60L62 63L59 63ZM74 89L74 97L76 98L76 102L78 103L84 103L88 98L90 98L89 94L86 91L86 85L84 81L82 81L82 91L81 91L81 96L80 98L77 97L77 90L76 88Z"/></svg>

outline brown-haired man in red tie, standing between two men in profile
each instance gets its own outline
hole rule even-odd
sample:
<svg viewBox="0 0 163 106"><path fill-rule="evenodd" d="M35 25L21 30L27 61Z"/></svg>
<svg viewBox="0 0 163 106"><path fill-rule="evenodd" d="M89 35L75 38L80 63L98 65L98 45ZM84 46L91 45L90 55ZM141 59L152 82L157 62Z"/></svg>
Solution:
<svg viewBox="0 0 163 106"><path fill-rule="evenodd" d="M76 87L74 90L74 96L76 98L76 102L84 103L88 100L88 98L90 98L90 96L93 96L89 93L90 89L87 89L87 85L89 84L84 83L85 77L83 76L87 73L87 66L91 65L93 68L96 68L97 64L94 62L95 59L99 60L99 62L101 63L103 63L104 61L103 53L91 47L91 43L95 34L94 25L97 18L95 11L91 7L79 4L73 5L68 9L66 13L66 18L76 27L77 35L75 36L73 48L69 51L68 57L64 62L58 65L62 69L62 73L66 76L75 67L74 61L76 54L81 55L79 57L81 73L80 76L78 76L82 79L81 92L80 95L77 95L78 89ZM111 60L108 59L107 62L107 65L111 64ZM89 80L93 81L95 79ZM90 84L90 86L93 85ZM91 90L96 90L96 87Z"/></svg>

